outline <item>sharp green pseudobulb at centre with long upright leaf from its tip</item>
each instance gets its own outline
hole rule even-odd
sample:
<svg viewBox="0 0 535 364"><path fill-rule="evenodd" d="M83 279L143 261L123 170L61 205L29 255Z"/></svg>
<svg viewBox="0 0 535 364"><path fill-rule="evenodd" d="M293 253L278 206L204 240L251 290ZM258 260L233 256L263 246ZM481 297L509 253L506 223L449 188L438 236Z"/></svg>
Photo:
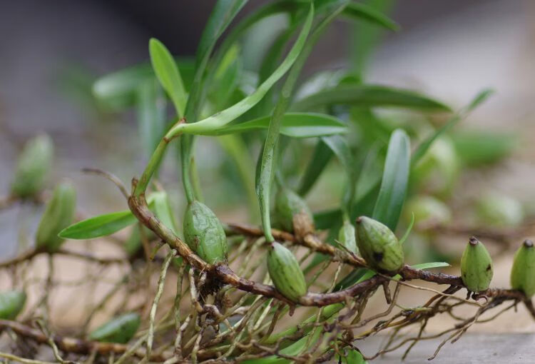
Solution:
<svg viewBox="0 0 535 364"><path fill-rule="evenodd" d="M275 288L287 299L297 302L307 294L307 283L297 259L285 246L274 242L267 253L267 271Z"/></svg>

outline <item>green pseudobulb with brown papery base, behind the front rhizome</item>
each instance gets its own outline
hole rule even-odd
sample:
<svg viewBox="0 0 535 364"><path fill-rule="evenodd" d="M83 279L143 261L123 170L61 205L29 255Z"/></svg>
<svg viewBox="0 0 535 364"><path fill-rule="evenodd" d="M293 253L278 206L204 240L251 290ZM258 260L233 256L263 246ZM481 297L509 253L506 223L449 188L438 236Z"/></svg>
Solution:
<svg viewBox="0 0 535 364"><path fill-rule="evenodd" d="M290 188L280 188L275 197L275 213L285 231L305 236L314 231L314 218L307 203Z"/></svg>

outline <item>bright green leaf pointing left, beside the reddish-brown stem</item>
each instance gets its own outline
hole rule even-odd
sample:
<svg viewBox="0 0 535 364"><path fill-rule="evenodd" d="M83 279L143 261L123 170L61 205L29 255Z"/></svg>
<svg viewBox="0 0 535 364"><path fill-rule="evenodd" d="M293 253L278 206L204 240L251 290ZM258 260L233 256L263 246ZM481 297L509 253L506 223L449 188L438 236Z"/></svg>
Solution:
<svg viewBox="0 0 535 364"><path fill-rule="evenodd" d="M58 236L65 239L92 239L108 236L138 221L131 211L106 213L64 228Z"/></svg>

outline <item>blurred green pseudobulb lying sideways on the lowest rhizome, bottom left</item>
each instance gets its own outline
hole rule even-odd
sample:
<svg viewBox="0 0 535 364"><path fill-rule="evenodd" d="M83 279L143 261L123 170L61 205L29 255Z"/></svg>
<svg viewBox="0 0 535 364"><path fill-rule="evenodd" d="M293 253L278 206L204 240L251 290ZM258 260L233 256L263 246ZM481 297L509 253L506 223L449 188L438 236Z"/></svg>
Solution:
<svg viewBox="0 0 535 364"><path fill-rule="evenodd" d="M141 318L137 313L125 313L113 318L89 334L89 338L104 343L126 344L139 328Z"/></svg>

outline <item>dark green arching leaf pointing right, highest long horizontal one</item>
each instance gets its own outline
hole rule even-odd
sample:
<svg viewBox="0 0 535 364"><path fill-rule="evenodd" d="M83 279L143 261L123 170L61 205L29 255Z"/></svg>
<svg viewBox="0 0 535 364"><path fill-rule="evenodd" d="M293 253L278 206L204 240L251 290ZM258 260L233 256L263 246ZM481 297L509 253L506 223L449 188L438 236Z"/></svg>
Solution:
<svg viewBox="0 0 535 364"><path fill-rule="evenodd" d="M423 111L450 111L449 106L420 93L377 85L342 84L297 101L294 111L313 110L322 106L349 104L353 106L396 106Z"/></svg>

